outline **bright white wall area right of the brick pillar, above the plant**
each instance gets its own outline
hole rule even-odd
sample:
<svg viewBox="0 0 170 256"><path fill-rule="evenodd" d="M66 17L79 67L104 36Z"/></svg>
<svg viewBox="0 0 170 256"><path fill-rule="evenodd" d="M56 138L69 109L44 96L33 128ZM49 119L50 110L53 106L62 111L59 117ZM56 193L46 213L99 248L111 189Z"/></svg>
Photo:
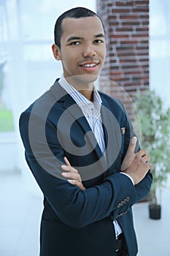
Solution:
<svg viewBox="0 0 170 256"><path fill-rule="evenodd" d="M150 0L150 87L170 107L170 1Z"/></svg>

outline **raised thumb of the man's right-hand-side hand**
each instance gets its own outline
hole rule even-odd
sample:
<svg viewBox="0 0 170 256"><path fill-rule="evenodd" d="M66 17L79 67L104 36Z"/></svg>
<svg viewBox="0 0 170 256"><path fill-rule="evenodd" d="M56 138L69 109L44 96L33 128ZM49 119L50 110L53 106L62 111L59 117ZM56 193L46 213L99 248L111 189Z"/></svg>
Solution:
<svg viewBox="0 0 170 256"><path fill-rule="evenodd" d="M129 165L131 165L131 162L134 161L134 158L136 154L134 153L136 148L137 138L133 137L131 138L131 141L128 146L128 151L125 154L125 158L123 159L123 163L121 165L121 171L127 169Z"/></svg>

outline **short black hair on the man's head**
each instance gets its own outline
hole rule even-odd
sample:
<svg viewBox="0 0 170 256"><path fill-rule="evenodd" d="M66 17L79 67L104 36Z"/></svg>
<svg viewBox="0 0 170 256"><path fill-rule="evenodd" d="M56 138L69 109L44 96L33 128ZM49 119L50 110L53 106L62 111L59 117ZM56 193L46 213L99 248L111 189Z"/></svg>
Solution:
<svg viewBox="0 0 170 256"><path fill-rule="evenodd" d="M76 7L66 12L63 12L63 14L61 14L55 22L55 28L54 28L55 45L58 45L58 47L61 48L61 36L63 34L62 22L64 18L84 18L84 17L93 17L93 16L97 16L101 20L101 18L96 14L96 12L88 10L85 7ZM101 24L104 28L104 23L102 20L101 20Z"/></svg>

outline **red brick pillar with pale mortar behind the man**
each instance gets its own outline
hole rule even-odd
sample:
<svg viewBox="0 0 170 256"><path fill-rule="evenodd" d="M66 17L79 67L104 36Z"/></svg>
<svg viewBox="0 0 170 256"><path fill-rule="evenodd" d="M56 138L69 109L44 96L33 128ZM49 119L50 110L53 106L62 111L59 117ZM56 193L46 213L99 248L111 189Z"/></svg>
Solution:
<svg viewBox="0 0 170 256"><path fill-rule="evenodd" d="M149 86L149 0L97 0L97 13L104 21L107 41L101 76L123 87L104 81L100 90L119 97L131 115L127 95L133 98Z"/></svg>

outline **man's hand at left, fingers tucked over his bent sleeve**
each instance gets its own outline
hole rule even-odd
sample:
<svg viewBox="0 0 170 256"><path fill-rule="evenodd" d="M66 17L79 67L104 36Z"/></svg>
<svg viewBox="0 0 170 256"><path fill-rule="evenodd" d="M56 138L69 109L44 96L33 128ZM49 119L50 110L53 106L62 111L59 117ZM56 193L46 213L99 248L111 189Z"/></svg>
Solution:
<svg viewBox="0 0 170 256"><path fill-rule="evenodd" d="M61 168L65 170L66 173L61 173L61 175L65 178L68 178L67 181L69 181L69 183L76 185L81 190L85 190L85 187L82 185L82 178L78 171L70 165L70 162L66 157L64 157L63 159L66 162L66 165L61 165Z"/></svg>

